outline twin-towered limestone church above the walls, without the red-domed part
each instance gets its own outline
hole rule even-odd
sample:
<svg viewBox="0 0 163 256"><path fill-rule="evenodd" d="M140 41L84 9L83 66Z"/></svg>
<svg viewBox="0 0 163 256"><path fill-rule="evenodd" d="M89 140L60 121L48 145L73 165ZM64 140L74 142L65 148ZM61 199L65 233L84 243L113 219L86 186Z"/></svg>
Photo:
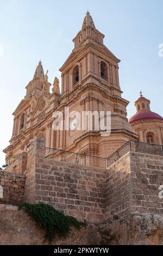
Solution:
<svg viewBox="0 0 163 256"><path fill-rule="evenodd" d="M60 68L61 94L56 77L50 93L51 83L39 62L26 87L26 96L14 111L10 145L4 149L8 164L13 157L26 152L30 139L35 138L45 138L49 148L101 157L108 157L129 139L137 140L127 121L129 102L123 99L120 88L120 60L103 44L103 38L87 12L81 31L73 39L74 49ZM111 135L103 137L100 129L93 127L90 131L87 126L84 130L80 126L80 130L54 131L53 112L61 111L65 120L65 107L81 116L82 111L110 111ZM74 119L79 123L77 117Z"/></svg>

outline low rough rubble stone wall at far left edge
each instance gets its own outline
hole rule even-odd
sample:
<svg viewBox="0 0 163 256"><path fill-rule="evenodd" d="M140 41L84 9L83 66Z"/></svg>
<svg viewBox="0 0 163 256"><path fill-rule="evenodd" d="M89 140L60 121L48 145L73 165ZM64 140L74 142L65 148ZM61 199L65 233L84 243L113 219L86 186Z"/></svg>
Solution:
<svg viewBox="0 0 163 256"><path fill-rule="evenodd" d="M0 172L0 204L18 205L23 201L25 175Z"/></svg>

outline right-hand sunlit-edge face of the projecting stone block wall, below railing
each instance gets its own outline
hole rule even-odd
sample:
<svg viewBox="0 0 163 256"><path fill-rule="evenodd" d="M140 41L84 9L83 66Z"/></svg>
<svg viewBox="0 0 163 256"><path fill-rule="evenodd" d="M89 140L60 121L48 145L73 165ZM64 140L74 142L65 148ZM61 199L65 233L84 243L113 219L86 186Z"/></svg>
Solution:
<svg viewBox="0 0 163 256"><path fill-rule="evenodd" d="M163 216L163 157L130 153L131 214L158 214Z"/></svg>

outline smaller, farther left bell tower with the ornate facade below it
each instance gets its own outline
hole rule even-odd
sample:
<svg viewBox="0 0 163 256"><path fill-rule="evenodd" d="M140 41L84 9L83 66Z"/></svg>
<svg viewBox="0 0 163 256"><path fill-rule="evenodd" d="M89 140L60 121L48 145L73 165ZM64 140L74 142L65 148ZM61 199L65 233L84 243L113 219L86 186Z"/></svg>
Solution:
<svg viewBox="0 0 163 256"><path fill-rule="evenodd" d="M40 60L33 79L26 86L26 96L21 100L13 113L14 124L10 145L3 150L8 164L13 159L16 159L20 153L26 153L30 139L46 138L46 133L48 133L46 130L48 128L43 124L43 121L46 121L46 108L49 109L52 96L54 101L57 101L59 97L59 94L55 96L55 90L53 95L49 92L51 83L48 82L47 73L48 71L44 74ZM48 138L46 141L48 143Z"/></svg>

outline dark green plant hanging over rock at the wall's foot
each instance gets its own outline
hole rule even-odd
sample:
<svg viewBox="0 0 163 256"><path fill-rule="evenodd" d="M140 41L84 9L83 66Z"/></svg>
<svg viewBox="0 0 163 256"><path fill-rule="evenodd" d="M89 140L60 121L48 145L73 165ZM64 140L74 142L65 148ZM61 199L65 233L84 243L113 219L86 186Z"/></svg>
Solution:
<svg viewBox="0 0 163 256"><path fill-rule="evenodd" d="M65 237L71 230L70 226L80 229L83 225L72 216L65 216L62 212L55 210L48 204L29 204L22 203L18 206L18 210L24 210L32 218L39 227L46 230L45 240L52 242L55 237Z"/></svg>

